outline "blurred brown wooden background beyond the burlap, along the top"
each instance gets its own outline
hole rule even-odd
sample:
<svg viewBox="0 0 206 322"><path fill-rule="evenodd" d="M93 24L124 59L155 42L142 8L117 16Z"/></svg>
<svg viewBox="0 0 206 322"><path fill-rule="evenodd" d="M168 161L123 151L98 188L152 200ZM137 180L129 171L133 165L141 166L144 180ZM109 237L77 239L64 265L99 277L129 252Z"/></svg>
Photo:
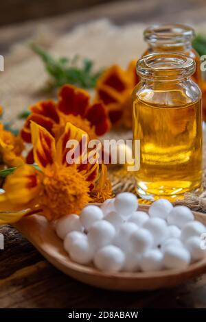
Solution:
<svg viewBox="0 0 206 322"><path fill-rule="evenodd" d="M58 34L80 23L109 18L118 25L142 23L202 23L205 0L1 0L0 51L26 39L37 25Z"/></svg>

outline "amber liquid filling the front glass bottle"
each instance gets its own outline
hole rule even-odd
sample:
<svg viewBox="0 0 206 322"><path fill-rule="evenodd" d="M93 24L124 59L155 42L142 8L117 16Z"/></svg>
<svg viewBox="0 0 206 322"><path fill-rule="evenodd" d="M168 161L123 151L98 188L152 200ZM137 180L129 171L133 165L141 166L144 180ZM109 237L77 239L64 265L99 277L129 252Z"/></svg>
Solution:
<svg viewBox="0 0 206 322"><path fill-rule="evenodd" d="M201 101L183 106L180 101L176 106L154 105L141 95L133 103L133 118L134 138L141 140L140 169L136 173L139 195L145 199L174 200L185 192L200 189Z"/></svg>

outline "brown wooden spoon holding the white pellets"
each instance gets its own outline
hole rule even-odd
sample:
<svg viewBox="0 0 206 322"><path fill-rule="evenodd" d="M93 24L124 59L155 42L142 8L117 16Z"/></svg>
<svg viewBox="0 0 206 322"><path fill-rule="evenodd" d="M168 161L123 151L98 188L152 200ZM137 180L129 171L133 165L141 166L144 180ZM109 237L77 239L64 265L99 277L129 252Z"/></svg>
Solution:
<svg viewBox="0 0 206 322"><path fill-rule="evenodd" d="M148 210L149 206L139 206L139 210ZM206 215L194 212L196 220L206 225ZM83 266L70 260L63 243L56 235L54 226L45 217L32 215L22 219L15 227L38 249L38 251L63 273L89 285L109 290L156 290L182 284L202 273L206 273L206 258L187 269L163 270L158 272L104 273L92 265Z"/></svg>

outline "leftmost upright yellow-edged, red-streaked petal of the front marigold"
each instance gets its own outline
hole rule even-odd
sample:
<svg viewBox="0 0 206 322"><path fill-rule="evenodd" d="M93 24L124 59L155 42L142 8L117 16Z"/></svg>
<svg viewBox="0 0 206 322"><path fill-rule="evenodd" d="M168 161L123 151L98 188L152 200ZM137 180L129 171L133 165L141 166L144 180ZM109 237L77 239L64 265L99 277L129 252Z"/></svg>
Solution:
<svg viewBox="0 0 206 322"><path fill-rule="evenodd" d="M34 147L34 161L45 172L54 164L56 156L55 139L40 125L31 122L32 144Z"/></svg>

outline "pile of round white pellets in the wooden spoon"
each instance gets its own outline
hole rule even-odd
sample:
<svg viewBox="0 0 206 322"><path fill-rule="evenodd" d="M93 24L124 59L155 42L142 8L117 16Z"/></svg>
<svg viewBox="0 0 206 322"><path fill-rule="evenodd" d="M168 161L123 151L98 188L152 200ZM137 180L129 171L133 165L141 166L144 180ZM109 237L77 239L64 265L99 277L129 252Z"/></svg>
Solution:
<svg viewBox="0 0 206 322"><path fill-rule="evenodd" d="M138 211L132 193L119 193L101 207L86 206L56 223L71 260L106 272L185 269L206 256L205 225L185 206L166 199Z"/></svg>

